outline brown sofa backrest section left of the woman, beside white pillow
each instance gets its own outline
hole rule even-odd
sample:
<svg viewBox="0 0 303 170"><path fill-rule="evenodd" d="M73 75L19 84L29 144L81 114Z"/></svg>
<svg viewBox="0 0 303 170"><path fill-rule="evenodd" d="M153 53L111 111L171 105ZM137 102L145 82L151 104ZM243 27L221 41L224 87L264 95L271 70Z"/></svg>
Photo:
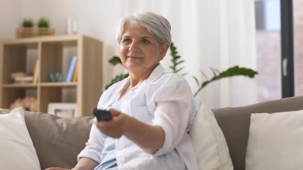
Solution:
<svg viewBox="0 0 303 170"><path fill-rule="evenodd" d="M9 110L0 110L0 114ZM36 149L41 169L71 169L89 138L93 117L64 119L52 114L24 112L25 123Z"/></svg>

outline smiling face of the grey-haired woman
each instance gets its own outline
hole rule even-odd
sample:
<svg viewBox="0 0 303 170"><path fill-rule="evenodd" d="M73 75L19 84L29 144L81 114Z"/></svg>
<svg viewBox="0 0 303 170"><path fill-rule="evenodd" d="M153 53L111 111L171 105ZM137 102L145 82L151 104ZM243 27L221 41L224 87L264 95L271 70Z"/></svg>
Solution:
<svg viewBox="0 0 303 170"><path fill-rule="evenodd" d="M156 36L146 27L125 25L120 42L120 58L128 71L152 72L164 58L167 49L168 43L160 45Z"/></svg>

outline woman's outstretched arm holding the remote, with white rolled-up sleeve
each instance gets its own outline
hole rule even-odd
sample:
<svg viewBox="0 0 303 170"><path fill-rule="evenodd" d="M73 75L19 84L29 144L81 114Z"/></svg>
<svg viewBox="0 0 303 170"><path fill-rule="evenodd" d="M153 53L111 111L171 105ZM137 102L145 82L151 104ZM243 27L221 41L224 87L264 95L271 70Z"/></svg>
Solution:
<svg viewBox="0 0 303 170"><path fill-rule="evenodd" d="M168 85L155 92L153 124L146 124L115 109L111 121L95 121L100 131L113 138L125 135L144 152L163 155L181 141L192 111L192 93L187 82Z"/></svg>

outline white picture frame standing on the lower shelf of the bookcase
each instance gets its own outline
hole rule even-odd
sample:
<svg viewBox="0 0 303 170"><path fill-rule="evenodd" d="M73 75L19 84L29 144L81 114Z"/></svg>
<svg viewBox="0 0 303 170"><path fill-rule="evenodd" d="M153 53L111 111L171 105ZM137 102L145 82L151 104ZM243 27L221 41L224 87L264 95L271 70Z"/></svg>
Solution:
<svg viewBox="0 0 303 170"><path fill-rule="evenodd" d="M78 116L77 103L48 103L47 113L62 118L73 118Z"/></svg>

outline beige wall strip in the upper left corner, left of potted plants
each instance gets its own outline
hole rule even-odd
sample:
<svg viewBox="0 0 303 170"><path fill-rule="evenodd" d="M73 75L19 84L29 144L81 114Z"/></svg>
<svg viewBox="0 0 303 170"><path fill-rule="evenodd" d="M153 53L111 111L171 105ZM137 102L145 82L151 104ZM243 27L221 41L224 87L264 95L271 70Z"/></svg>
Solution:
<svg viewBox="0 0 303 170"><path fill-rule="evenodd" d="M0 0L0 40L15 37L21 20L21 0Z"/></svg>

